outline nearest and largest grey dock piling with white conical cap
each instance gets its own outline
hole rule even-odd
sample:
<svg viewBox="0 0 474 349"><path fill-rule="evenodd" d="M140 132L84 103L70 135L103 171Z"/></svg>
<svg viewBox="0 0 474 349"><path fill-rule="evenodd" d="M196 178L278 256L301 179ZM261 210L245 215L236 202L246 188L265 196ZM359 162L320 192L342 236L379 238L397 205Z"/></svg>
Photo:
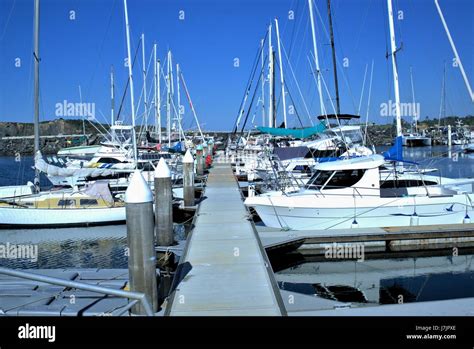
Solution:
<svg viewBox="0 0 474 349"><path fill-rule="evenodd" d="M128 270L130 290L144 293L154 312L158 309L156 255L154 245L153 194L139 170L135 170L125 192ZM132 313L146 315L141 303Z"/></svg>

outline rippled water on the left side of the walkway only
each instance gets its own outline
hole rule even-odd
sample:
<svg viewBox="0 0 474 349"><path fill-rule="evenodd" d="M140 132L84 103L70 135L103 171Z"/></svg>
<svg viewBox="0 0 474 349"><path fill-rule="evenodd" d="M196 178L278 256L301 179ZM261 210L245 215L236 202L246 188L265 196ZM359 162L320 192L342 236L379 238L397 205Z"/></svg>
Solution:
<svg viewBox="0 0 474 349"><path fill-rule="evenodd" d="M33 158L0 157L0 185L20 185L34 177ZM46 177L41 186L51 186ZM184 226L175 224L175 239L185 239ZM11 268L127 268L125 225L64 229L0 229L0 246L7 243L37 246L33 259L2 258Z"/></svg>

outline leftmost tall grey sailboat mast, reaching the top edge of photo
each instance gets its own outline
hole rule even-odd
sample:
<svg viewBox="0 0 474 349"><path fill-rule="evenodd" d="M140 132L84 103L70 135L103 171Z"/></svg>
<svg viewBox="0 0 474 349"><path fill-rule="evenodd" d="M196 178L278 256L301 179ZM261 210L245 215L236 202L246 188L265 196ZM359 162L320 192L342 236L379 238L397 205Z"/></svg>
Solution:
<svg viewBox="0 0 474 349"><path fill-rule="evenodd" d="M40 0L35 0L35 14L34 14L34 52L35 60L35 83L34 83L34 134L35 134L35 155L40 151L39 141L39 14L40 14ZM35 168L34 184L37 191L39 191L39 176L40 172Z"/></svg>

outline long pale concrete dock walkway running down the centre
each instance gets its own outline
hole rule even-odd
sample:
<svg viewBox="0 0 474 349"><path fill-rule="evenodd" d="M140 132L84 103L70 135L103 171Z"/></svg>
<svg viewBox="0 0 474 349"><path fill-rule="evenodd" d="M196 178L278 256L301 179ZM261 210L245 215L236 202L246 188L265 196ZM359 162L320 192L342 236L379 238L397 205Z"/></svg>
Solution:
<svg viewBox="0 0 474 349"><path fill-rule="evenodd" d="M166 315L286 315L230 164L210 170L204 196L181 261L191 269L170 296Z"/></svg>

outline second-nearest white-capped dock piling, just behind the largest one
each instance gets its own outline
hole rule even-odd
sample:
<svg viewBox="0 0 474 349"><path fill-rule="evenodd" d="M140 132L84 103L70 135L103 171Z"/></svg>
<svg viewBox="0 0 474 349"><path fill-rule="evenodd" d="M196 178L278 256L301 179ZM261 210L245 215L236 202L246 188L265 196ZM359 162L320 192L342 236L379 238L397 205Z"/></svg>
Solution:
<svg viewBox="0 0 474 349"><path fill-rule="evenodd" d="M161 158L155 170L155 234L159 246L171 246L173 236L171 171Z"/></svg>

